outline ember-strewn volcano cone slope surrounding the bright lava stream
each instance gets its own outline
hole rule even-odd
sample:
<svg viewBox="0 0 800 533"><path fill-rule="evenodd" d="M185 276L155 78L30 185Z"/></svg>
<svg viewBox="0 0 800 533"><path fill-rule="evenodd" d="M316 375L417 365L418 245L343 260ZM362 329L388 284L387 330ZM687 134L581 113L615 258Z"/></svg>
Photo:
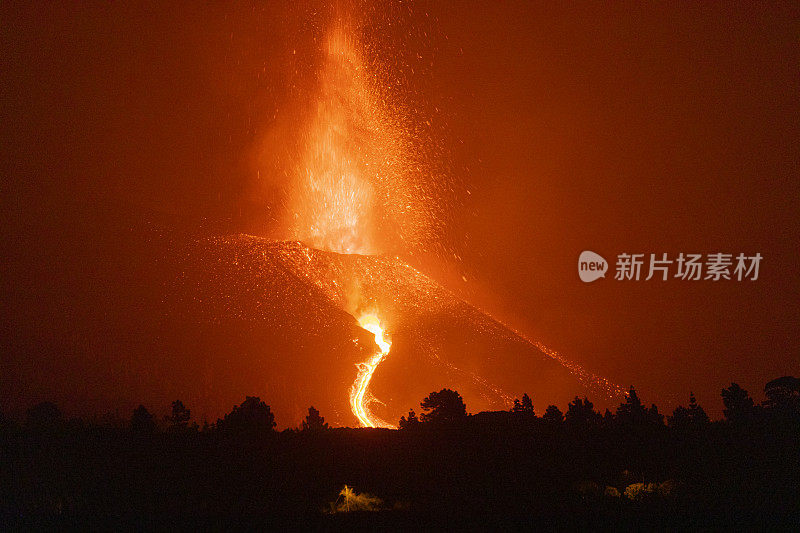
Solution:
<svg viewBox="0 0 800 533"><path fill-rule="evenodd" d="M246 393L264 398L281 426L298 424L309 405L335 425L357 425L349 404L356 365L378 349L358 326L368 313L392 340L369 389L370 409L388 422L443 387L458 390L473 412L506 409L523 392L539 411L608 394L603 380L397 258L237 235L193 243L178 265L167 307L182 331L170 334L196 355L197 400L212 411Z"/></svg>

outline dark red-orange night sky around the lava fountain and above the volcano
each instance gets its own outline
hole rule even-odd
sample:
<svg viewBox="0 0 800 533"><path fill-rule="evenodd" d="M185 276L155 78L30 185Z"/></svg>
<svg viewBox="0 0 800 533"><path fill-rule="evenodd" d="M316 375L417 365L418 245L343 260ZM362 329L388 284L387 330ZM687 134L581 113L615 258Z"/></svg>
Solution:
<svg viewBox="0 0 800 533"><path fill-rule="evenodd" d="M438 233L392 253L662 410L694 391L719 416L731 381L760 399L800 372L797 5L359 11L440 173ZM52 360L65 342L91 351L138 297L158 252L131 227L285 238L280 147L331 16L309 2L0 7L0 381L15 391L0 409L59 397L54 372L113 386ZM583 250L612 263L606 279L580 281ZM664 252L763 260L756 281L613 279L618 254ZM39 382L20 383L21 361Z"/></svg>

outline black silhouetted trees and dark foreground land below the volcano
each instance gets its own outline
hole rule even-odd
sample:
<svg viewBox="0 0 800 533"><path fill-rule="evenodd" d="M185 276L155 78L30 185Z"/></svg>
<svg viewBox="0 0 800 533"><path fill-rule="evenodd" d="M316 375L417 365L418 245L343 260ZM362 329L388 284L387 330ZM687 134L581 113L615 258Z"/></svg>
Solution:
<svg viewBox="0 0 800 533"><path fill-rule="evenodd" d="M792 528L800 378L772 380L764 393L756 404L732 383L724 418L712 421L693 394L667 416L633 387L603 413L576 397L539 415L524 394L509 411L470 415L458 392L442 389L399 431L330 428L310 407L299 427L278 432L269 405L250 396L202 426L180 400L161 421L139 406L126 424L65 419L44 402L21 422L0 416L0 518L23 527Z"/></svg>

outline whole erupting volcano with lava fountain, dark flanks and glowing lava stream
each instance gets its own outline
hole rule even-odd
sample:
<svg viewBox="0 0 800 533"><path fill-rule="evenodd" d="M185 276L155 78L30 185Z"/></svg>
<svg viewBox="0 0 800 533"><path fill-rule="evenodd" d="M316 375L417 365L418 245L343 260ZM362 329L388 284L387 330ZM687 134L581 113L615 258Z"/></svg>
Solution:
<svg viewBox="0 0 800 533"><path fill-rule="evenodd" d="M56 391L60 405L129 412L142 399L180 398L213 421L252 395L281 427L296 427L310 405L332 425L391 427L444 387L473 412L507 409L524 392L537 409L619 393L413 266L448 249L443 221L457 187L426 151L424 113L408 111L391 69L361 42L369 28L330 28L305 51L316 74L286 113L291 127L256 150L282 165L261 172L283 198L269 204L282 207L270 238L187 235L138 210L112 224L117 208L90 211L102 223L70 239L48 232L86 251L60 278L75 309L65 313L57 292L31 297L52 311L16 331L31 348L10 352L7 403ZM97 275L86 275L89 251ZM60 329L45 336L50 322ZM49 372L30 356L39 353L55 354Z"/></svg>

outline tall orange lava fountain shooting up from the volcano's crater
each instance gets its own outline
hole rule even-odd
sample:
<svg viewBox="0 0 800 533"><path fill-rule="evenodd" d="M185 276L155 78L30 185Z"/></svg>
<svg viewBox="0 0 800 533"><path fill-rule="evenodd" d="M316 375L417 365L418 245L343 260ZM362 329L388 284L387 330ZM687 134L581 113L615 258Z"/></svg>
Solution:
<svg viewBox="0 0 800 533"><path fill-rule="evenodd" d="M406 111L352 24L327 33L315 91L292 170L291 238L346 254L424 239L434 202L413 176L423 165Z"/></svg>

